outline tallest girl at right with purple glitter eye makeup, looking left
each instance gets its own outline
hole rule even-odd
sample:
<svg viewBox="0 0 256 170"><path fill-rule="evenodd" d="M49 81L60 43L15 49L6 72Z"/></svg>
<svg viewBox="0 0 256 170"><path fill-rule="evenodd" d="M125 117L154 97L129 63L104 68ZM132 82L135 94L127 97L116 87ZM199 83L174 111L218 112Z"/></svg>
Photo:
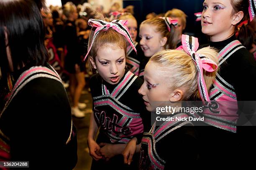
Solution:
<svg viewBox="0 0 256 170"><path fill-rule="evenodd" d="M244 136L246 133L243 129L246 127L239 127L243 132L239 132L239 128L238 131L236 130L236 122L239 121L238 116L241 112L239 110L243 110L243 105L237 101L256 100L255 85L251 83L251 80L256 79L255 61L250 52L236 39L236 32L239 31L239 37L245 30L241 28L238 30L237 27L246 19L246 14L248 14L248 0L205 0L203 2L202 32L210 36L210 47L215 47L219 52L220 71L210 89L210 100L228 101L228 104L218 102L220 114L210 115L214 121L206 122L212 127L198 130L201 133L202 143L206 145L214 140L222 141L215 143L214 147L208 150L209 152L204 153L205 156L202 158L205 159L216 157L230 159L220 153L225 150L232 155L237 152L235 148L250 146L241 147L242 140L239 141L236 135L236 132L238 136L243 135L241 138L243 141L247 141L250 136ZM251 132L252 128L246 128L246 131Z"/></svg>

